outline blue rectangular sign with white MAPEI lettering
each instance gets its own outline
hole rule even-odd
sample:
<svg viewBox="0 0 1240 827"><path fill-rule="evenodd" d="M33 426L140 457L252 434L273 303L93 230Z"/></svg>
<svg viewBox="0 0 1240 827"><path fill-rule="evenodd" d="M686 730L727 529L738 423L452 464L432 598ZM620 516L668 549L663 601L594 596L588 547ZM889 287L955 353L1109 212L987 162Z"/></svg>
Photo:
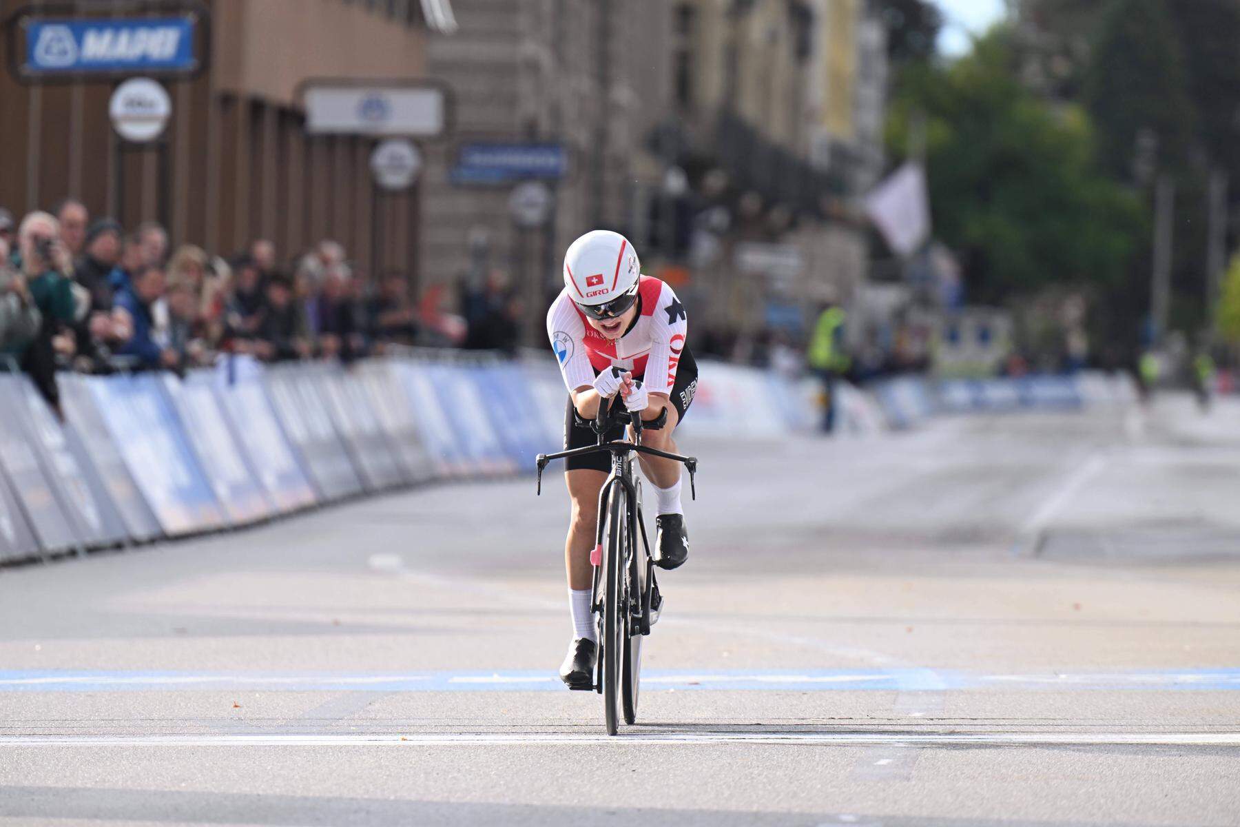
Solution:
<svg viewBox="0 0 1240 827"><path fill-rule="evenodd" d="M197 17L27 17L26 74L134 72L186 74L198 68Z"/></svg>

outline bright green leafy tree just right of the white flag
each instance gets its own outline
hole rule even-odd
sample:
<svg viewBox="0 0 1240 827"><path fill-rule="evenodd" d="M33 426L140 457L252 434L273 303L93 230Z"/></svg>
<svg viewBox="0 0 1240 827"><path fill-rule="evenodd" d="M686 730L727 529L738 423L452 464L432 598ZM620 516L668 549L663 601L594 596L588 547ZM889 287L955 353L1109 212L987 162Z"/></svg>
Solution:
<svg viewBox="0 0 1240 827"><path fill-rule="evenodd" d="M1096 169L1084 109L1034 95L1017 66L997 29L950 64L910 67L888 120L892 154L924 114L935 234L960 255L972 301L1114 289L1143 238L1141 207Z"/></svg>

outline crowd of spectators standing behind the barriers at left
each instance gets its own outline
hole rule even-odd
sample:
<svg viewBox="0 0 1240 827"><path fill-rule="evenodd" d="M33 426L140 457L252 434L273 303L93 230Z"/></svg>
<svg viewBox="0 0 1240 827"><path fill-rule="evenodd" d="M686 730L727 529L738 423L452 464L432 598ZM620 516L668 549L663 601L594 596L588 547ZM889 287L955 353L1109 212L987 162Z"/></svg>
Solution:
<svg viewBox="0 0 1240 827"><path fill-rule="evenodd" d="M502 279L500 279L502 281ZM229 355L263 362L340 358L399 346L512 350L520 307L496 280L410 295L403 273L368 279L337 243L281 262L254 241L231 257L175 249L155 222L126 229L66 198L15 222L0 208L0 363L29 373L60 409L56 372L169 369Z"/></svg>

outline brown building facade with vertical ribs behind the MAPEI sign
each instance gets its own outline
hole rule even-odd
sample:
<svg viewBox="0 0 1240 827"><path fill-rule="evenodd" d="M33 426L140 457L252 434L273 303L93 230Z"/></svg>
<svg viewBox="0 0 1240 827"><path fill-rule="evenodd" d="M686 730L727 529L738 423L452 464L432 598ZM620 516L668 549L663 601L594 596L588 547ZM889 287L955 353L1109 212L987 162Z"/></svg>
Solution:
<svg viewBox="0 0 1240 827"><path fill-rule="evenodd" d="M37 5L9 0L0 16ZM205 5L210 66L193 79L164 81L172 117L156 144L117 138L113 79L24 84L0 74L0 206L20 214L72 196L93 216L125 227L160 221L174 244L222 254L263 237L291 258L332 238L363 270L415 265L418 238L404 228L415 227L418 193L378 198L368 169L374 140L308 135L300 93L320 78L423 77L429 32L451 26L446 0ZM81 7L89 19L102 6ZM134 4L112 7L124 15ZM392 229L376 233L376 222Z"/></svg>

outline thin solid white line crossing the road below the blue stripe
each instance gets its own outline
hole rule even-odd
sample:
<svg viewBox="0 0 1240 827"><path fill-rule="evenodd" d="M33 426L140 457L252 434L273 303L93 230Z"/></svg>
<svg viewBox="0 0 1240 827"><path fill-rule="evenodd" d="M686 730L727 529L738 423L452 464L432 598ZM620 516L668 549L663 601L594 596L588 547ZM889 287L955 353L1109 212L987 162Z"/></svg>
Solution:
<svg viewBox="0 0 1240 827"><path fill-rule="evenodd" d="M1231 733L552 733L229 734L229 735L0 735L5 746L598 746L598 745L800 744L857 746L1240 746Z"/></svg>

